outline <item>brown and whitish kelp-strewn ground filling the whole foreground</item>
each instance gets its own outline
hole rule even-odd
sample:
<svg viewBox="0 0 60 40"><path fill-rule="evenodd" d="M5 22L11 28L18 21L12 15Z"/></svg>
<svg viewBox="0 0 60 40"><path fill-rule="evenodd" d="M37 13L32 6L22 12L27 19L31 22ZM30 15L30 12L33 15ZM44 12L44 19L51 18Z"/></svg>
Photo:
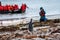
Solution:
<svg viewBox="0 0 60 40"><path fill-rule="evenodd" d="M29 23L0 27L0 40L12 40L15 38L44 38L45 40L60 39L60 19L47 20L46 22L35 21L32 23L34 27L32 33L28 30L28 24Z"/></svg>

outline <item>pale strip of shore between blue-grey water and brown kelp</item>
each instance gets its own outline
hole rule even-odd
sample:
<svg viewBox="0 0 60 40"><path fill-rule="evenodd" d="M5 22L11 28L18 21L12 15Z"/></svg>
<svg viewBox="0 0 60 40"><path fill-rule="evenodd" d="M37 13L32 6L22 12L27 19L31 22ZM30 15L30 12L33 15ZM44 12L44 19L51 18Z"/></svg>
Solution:
<svg viewBox="0 0 60 40"><path fill-rule="evenodd" d="M7 19L0 19L0 26L10 26L10 25L16 25L16 24L26 24L29 23L30 19L33 19L34 21L39 22L39 16L33 16L33 17L22 17L22 18L7 18ZM60 20L59 14L56 15L48 15L46 16L48 20Z"/></svg>

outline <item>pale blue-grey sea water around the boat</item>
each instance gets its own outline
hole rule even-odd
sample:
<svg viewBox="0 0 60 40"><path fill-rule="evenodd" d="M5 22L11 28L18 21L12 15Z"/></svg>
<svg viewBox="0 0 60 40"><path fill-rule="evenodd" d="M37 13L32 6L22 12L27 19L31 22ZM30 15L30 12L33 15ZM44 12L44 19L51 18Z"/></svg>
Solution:
<svg viewBox="0 0 60 40"><path fill-rule="evenodd" d="M0 14L0 19L10 19L10 18L22 18L22 17L39 17L40 7L42 6L46 12L46 15L56 15L60 14L60 0L0 0L2 5L18 4L19 8L22 3L27 4L29 8L23 14ZM59 17L59 16L56 16ZM48 18L52 18L51 16ZM55 18L55 16L53 17Z"/></svg>

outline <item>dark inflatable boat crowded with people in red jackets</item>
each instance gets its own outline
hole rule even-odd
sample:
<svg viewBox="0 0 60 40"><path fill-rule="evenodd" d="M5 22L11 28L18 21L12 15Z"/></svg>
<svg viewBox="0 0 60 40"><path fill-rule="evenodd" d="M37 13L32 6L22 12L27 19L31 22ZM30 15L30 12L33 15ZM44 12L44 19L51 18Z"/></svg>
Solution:
<svg viewBox="0 0 60 40"><path fill-rule="evenodd" d="M14 5L2 5L1 2L0 2L0 14L24 13L26 8L28 8L26 6L26 4L22 4L22 6L19 8L19 6L17 4L14 4Z"/></svg>

